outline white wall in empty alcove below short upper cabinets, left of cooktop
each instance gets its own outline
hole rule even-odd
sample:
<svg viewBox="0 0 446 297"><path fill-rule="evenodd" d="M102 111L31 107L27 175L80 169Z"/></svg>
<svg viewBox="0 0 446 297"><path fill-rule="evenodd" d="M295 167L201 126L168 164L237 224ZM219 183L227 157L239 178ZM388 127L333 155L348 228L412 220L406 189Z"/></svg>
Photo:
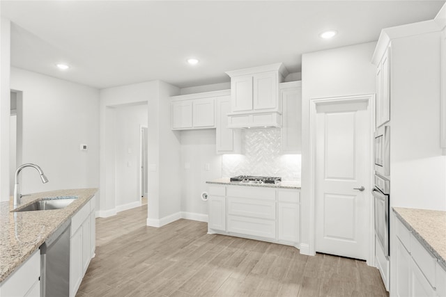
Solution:
<svg viewBox="0 0 446 297"><path fill-rule="evenodd" d="M182 211L208 214L208 204L200 194L207 190L207 181L222 177L222 155L215 154L215 143L215 129L181 131Z"/></svg>

